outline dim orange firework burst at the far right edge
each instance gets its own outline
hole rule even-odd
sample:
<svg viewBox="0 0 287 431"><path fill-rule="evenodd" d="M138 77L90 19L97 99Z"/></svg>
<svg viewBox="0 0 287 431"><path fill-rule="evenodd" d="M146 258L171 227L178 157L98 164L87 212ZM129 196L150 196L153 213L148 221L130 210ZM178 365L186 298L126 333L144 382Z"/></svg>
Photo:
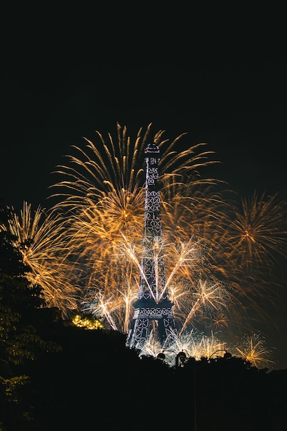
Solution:
<svg viewBox="0 0 287 431"><path fill-rule="evenodd" d="M278 194L254 192L233 204L224 243L234 266L252 272L275 264L278 255L287 256L286 213L287 202Z"/></svg>

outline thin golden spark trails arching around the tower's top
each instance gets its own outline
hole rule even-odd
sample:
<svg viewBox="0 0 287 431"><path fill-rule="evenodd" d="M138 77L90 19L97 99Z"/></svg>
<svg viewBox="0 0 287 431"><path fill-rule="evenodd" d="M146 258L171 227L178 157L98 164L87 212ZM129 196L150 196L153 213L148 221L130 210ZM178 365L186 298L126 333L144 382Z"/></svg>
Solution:
<svg viewBox="0 0 287 431"><path fill-rule="evenodd" d="M76 204L86 206L87 198L98 202L107 196L107 193L118 194L122 189L136 195L138 187L145 184L142 155L148 140L153 140L161 149L159 170L162 172L162 184L174 184L177 178L182 179L182 176L188 176L190 180L192 178L194 185L217 182L214 179L201 178L199 174L199 169L217 162L209 160L214 154L213 151L201 151L206 144L201 143L178 151L180 140L185 134L173 141L164 139L162 130L152 136L151 124L145 132L140 128L134 143L131 143L127 135L127 127L117 125L117 131L117 142L109 134L106 143L103 135L96 131L100 138L98 145L85 138L85 151L81 147L72 146L79 156L67 156L71 166L59 165L55 171L67 179L51 186L59 189L59 192L50 197L63 198L60 207L74 208Z"/></svg>

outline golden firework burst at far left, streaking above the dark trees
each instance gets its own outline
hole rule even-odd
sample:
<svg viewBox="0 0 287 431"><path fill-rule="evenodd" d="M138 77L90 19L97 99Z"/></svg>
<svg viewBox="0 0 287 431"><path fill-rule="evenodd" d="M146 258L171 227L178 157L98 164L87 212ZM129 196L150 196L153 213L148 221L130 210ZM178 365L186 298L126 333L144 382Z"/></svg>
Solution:
<svg viewBox="0 0 287 431"><path fill-rule="evenodd" d="M23 202L21 215L8 208L10 218L0 230L14 235L13 244L21 251L23 262L31 269L28 280L43 288L47 306L56 306L63 316L78 303L78 289L73 280L74 266L65 259L69 254L65 244L65 229L52 213L40 206L32 213L32 206Z"/></svg>

